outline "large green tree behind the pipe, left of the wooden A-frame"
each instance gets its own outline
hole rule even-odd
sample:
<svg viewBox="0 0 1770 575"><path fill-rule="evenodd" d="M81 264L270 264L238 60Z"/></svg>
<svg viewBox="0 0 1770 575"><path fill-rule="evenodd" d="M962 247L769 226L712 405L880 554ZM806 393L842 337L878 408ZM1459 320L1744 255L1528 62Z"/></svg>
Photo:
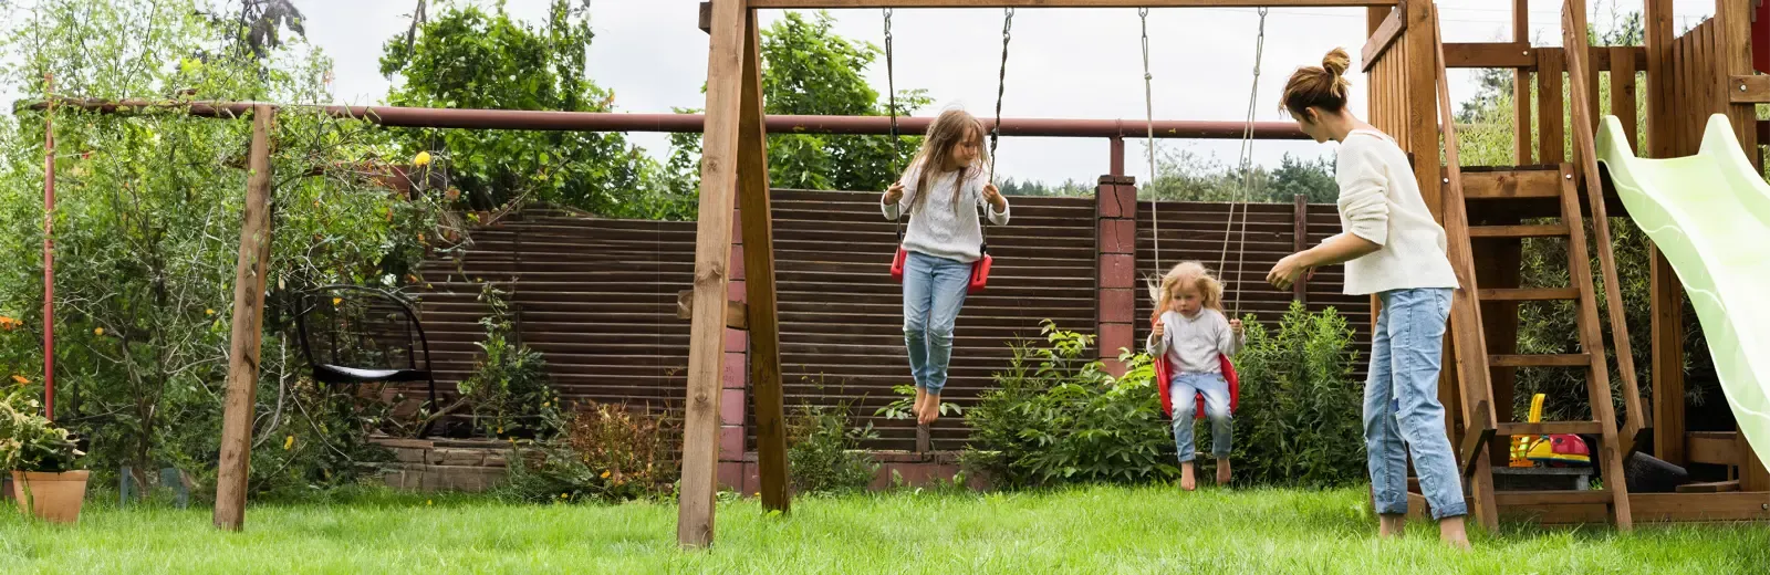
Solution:
<svg viewBox="0 0 1770 575"><path fill-rule="evenodd" d="M589 14L554 0L540 27L515 21L503 4L450 5L382 46L382 74L402 76L395 106L611 111L614 92L584 76L595 37ZM611 218L681 218L692 203L669 196L658 166L618 133L396 131L409 152L448 166L464 202L480 211L517 200L568 205ZM411 156L405 156L411 157Z"/></svg>

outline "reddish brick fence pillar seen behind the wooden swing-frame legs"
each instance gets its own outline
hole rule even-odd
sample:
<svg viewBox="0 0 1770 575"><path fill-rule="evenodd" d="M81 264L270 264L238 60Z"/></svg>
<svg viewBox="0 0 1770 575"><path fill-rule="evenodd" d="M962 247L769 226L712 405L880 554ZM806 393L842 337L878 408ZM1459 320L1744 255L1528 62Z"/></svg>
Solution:
<svg viewBox="0 0 1770 575"><path fill-rule="evenodd" d="M742 211L733 211L731 214L731 287L726 292L729 299L747 301L745 283L743 283L743 218ZM750 333L743 329L726 327L726 364L722 370L720 396L719 396L719 487L733 488L740 494L754 494L754 481L745 481L756 472L756 460L745 460L745 414L750 407L749 398L749 349Z"/></svg>

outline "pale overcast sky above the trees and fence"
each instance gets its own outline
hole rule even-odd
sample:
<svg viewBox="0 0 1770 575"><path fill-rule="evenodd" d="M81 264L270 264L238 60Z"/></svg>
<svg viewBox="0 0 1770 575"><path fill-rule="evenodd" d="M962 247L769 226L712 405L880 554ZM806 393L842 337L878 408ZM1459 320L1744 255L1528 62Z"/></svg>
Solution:
<svg viewBox="0 0 1770 575"><path fill-rule="evenodd" d="M336 58L335 94L342 103L379 103L389 80L379 69L381 42L409 25L416 0L294 0L308 16L308 41ZM435 4L435 2L432 2ZM490 4L490 2L481 2ZM1504 0L1441 0L1446 42L1510 41L1510 4ZM1589 0L1595 23L1609 21L1614 0ZM538 21L547 0L508 0L517 18ZM1639 11L1641 0L1618 5ZM1713 0L1676 0L1682 30L1687 21L1713 14ZM1561 0L1531 0L1536 44L1559 44ZM703 108L706 34L696 28L696 0L593 0L589 76L616 92L616 110L658 113ZM432 12L435 9L432 7ZM781 18L763 12L765 25ZM880 11L830 11L835 32L883 42ZM899 88L927 88L936 113L963 106L991 113L1002 53L1000 9L903 9L892 18ZM1253 83L1253 9L1156 9L1149 16L1154 115L1168 120L1241 120ZM1365 44L1365 9L1273 9L1266 25L1266 58L1255 104L1257 120L1283 120L1278 94L1292 69L1320 62L1335 46L1356 60ZM1009 46L1005 117L1143 119L1143 74L1135 9L1021 9ZM1356 71L1356 62L1354 62ZM1467 73L1451 73L1451 94L1467 97ZM885 85L883 62L867 71ZM1365 78L1354 74L1356 111L1365 110ZM662 134L632 134L651 154L667 154ZM1225 163L1237 156L1235 142L1188 142ZM1310 142L1260 142L1257 161L1276 163L1285 154L1320 156L1329 149ZM1142 154L1140 145L1131 147ZM1131 165L1136 165L1135 161ZM1004 138L998 173L1058 182L1094 180L1106 172L1104 140ZM1131 168L1133 173L1140 172ZM1145 168L1147 172L1147 168Z"/></svg>

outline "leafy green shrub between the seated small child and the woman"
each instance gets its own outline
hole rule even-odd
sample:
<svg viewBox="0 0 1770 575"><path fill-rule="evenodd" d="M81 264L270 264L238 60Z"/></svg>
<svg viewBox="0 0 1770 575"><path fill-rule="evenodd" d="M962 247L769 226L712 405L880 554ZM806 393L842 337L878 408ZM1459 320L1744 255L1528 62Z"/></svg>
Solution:
<svg viewBox="0 0 1770 575"><path fill-rule="evenodd" d="M1352 379L1352 329L1333 308L1301 303L1278 331L1246 322L1235 356L1235 479L1264 485L1345 485L1365 478L1363 386Z"/></svg>

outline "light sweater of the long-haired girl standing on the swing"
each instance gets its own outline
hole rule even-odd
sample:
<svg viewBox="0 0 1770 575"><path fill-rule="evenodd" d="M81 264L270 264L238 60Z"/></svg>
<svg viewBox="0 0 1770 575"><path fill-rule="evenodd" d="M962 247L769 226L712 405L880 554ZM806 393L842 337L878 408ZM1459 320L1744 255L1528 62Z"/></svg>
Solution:
<svg viewBox="0 0 1770 575"><path fill-rule="evenodd" d="M885 219L897 219L904 211L910 212L908 232L903 235L904 249L938 258L977 262L982 258L984 242L977 207L984 205L989 211L991 223L1007 225L1007 198L1002 198L1000 214L984 202L988 173L988 166L966 168L963 189L956 186L959 172L933 175L927 179L927 200L917 207L915 198L924 191L917 189L922 165L915 163L904 170L899 180L903 182L903 198L894 205L880 196L880 209L885 212ZM952 209L954 193L961 193L958 211Z"/></svg>

